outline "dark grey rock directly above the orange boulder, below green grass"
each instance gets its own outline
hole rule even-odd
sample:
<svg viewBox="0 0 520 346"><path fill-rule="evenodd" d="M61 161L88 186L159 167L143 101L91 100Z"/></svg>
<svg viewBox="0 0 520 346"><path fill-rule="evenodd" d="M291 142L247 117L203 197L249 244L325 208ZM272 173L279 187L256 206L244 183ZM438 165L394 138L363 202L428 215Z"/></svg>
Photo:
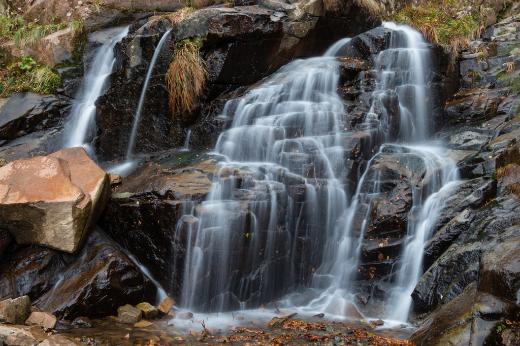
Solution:
<svg viewBox="0 0 520 346"><path fill-rule="evenodd" d="M19 92L0 108L0 157L8 161L48 155L61 149L63 121L71 99Z"/></svg>

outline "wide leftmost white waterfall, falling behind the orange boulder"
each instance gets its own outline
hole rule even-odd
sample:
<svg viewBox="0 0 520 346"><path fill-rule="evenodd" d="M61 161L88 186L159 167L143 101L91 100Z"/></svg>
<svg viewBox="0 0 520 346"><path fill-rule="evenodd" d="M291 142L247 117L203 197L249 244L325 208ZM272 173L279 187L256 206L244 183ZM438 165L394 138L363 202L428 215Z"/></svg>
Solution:
<svg viewBox="0 0 520 346"><path fill-rule="evenodd" d="M71 111L71 121L66 125L68 134L66 148L84 147L92 157L93 150L90 149L90 131L93 131L94 114L96 106L94 102L106 91L108 78L113 71L115 64L114 46L120 42L128 33L126 26L118 35L110 39L107 44L103 44L92 62L90 69L85 74L81 101L74 104Z"/></svg>

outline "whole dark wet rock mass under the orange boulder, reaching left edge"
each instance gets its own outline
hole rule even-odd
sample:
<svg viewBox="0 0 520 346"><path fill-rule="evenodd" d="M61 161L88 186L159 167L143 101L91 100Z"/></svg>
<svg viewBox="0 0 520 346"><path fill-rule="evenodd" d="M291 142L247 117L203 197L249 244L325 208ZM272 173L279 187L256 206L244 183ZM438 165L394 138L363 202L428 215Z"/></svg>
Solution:
<svg viewBox="0 0 520 346"><path fill-rule="evenodd" d="M90 234L79 254L14 245L4 259L0 299L28 295L60 320L113 315L125 303L154 301L157 293L100 230Z"/></svg>

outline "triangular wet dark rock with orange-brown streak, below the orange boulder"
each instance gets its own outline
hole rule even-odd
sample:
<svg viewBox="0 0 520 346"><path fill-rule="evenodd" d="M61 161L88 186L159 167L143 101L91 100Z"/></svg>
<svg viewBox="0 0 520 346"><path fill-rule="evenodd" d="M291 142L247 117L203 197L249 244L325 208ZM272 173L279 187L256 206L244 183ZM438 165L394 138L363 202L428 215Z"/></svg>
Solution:
<svg viewBox="0 0 520 346"><path fill-rule="evenodd" d="M59 320L106 317L125 303L153 301L157 294L157 287L99 229L57 276L54 287L35 303Z"/></svg>

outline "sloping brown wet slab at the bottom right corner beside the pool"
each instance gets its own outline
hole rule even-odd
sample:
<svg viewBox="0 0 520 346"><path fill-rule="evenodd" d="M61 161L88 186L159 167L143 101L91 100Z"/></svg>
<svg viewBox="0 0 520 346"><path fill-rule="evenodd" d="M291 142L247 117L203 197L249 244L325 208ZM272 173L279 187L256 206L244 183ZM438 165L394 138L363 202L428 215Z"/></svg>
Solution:
<svg viewBox="0 0 520 346"><path fill-rule="evenodd" d="M473 283L457 298L428 315L410 339L418 346L452 342L468 346L483 344L490 340L493 327L499 322L497 317L509 316L514 311L514 304L478 291L477 283Z"/></svg>

